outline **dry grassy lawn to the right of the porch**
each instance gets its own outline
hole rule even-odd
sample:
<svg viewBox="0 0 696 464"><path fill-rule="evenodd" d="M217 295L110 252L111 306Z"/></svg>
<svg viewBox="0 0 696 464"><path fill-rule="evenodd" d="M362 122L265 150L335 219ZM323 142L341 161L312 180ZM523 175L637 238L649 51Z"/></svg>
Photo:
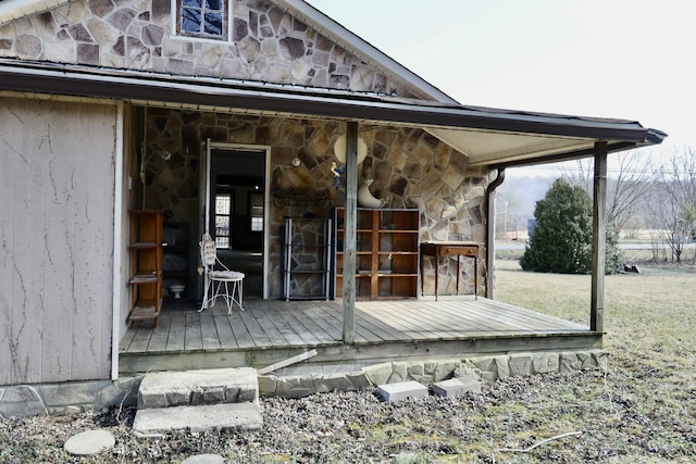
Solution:
<svg viewBox="0 0 696 464"><path fill-rule="evenodd" d="M517 261L496 266L496 299L588 324L589 276L525 273ZM547 406L563 397L588 402L566 429L594 430L616 452L606 462L696 462L696 273L642 271L606 277L604 385L588 377L568 389L552 386ZM551 429L559 425L548 419Z"/></svg>

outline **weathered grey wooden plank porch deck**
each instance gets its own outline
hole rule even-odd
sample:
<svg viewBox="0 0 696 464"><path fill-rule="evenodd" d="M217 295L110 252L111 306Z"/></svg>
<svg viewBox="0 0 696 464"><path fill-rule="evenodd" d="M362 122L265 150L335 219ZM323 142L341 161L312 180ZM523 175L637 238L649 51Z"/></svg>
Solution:
<svg viewBox="0 0 696 464"><path fill-rule="evenodd" d="M340 301L247 300L246 311L195 303L164 305L157 329L140 324L120 346L122 374L254 366L309 349L306 363L366 364L393 360L467 356L601 347L586 326L478 298L440 297L356 303L356 343L341 341Z"/></svg>

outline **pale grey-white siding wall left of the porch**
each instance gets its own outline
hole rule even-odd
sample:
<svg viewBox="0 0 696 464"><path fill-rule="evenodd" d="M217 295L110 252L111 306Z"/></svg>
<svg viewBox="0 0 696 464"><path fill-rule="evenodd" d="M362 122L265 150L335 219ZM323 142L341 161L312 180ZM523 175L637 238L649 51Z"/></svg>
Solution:
<svg viewBox="0 0 696 464"><path fill-rule="evenodd" d="M0 385L110 377L115 122L0 97Z"/></svg>

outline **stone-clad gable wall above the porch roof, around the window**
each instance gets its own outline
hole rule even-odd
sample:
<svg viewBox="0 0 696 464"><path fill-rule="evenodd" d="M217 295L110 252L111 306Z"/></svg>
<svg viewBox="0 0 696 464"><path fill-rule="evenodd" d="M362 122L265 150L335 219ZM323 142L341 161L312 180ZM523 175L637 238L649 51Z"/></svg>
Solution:
<svg viewBox="0 0 696 464"><path fill-rule="evenodd" d="M170 0L83 0L0 25L0 57L426 98L266 0L228 0L233 41L171 30Z"/></svg>

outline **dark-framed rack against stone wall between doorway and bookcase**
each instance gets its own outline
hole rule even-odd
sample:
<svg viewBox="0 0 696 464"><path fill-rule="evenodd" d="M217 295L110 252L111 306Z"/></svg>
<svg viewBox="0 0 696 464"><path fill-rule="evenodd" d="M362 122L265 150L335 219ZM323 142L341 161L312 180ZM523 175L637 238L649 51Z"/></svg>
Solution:
<svg viewBox="0 0 696 464"><path fill-rule="evenodd" d="M328 300L332 220L286 217L283 242L283 294L289 300Z"/></svg>

